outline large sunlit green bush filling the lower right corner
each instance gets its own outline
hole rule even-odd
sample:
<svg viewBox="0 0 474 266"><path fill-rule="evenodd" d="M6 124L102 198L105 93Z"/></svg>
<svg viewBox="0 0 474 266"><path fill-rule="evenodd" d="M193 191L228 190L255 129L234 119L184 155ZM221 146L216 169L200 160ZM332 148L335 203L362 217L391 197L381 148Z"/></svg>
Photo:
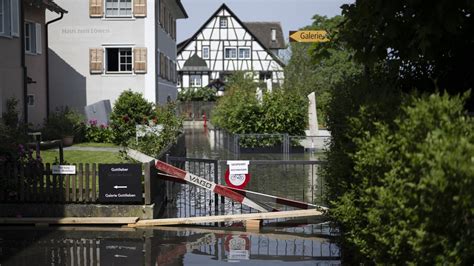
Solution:
<svg viewBox="0 0 474 266"><path fill-rule="evenodd" d="M474 121L466 97L412 96L356 135L349 189L332 215L376 263L474 261ZM365 120L353 118L355 124ZM394 122L390 122L394 121Z"/></svg>

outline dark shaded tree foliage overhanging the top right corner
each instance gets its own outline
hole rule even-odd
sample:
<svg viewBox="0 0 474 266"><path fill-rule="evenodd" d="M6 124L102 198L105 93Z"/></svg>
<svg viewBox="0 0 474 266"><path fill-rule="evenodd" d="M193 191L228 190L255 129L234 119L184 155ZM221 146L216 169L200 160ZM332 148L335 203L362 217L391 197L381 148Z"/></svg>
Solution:
<svg viewBox="0 0 474 266"><path fill-rule="evenodd" d="M403 88L464 92L474 86L470 0L357 0L342 6L340 38L367 67L387 62ZM472 106L471 106L472 107Z"/></svg>

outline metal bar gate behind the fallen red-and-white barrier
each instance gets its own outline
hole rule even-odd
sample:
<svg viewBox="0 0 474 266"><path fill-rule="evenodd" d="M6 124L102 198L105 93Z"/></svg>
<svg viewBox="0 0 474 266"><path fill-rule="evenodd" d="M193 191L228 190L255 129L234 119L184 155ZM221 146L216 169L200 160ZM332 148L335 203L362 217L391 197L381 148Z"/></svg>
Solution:
<svg viewBox="0 0 474 266"><path fill-rule="evenodd" d="M226 185L226 160L167 156L166 162L216 184ZM324 181L318 175L322 161L252 160L247 190L324 205ZM166 217L197 217L252 213L256 210L225 197L187 184L168 183ZM291 207L273 206L280 210Z"/></svg>

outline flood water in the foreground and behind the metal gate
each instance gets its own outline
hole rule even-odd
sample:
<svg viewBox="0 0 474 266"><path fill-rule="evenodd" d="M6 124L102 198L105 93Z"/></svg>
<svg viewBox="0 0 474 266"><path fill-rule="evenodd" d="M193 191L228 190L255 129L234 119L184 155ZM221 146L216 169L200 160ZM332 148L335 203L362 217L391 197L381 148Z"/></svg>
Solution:
<svg viewBox="0 0 474 266"><path fill-rule="evenodd" d="M186 129L186 145L188 157L234 159L232 153L212 147L209 135L202 128ZM253 154L250 158L241 155L240 159L280 159L278 156ZM314 158L311 157L314 155L308 154L298 156L301 156L298 159ZM265 171L271 172L268 169ZM308 171L301 171L303 180L307 180ZM288 189L278 185L278 182L295 182L279 176L279 173L280 170L271 172L269 176L261 177L260 181L254 178L254 183L250 184L255 190L288 194ZM219 172L218 175L221 174ZM275 180L278 181L276 185ZM174 211L168 213L170 216L214 214L212 208L197 213L202 205L191 206L191 194L186 195L185 192L189 188L178 188L176 194L184 196L178 196L175 202L171 202ZM313 200L305 191L295 194L295 199ZM192 190L191 193L198 195L200 191ZM203 195L203 201L209 202L204 205L213 205L214 196ZM224 213L245 212L238 204L225 204ZM259 232L247 232L240 223L152 229L0 227L0 265L340 265L341 251L332 242L337 235L337 229L318 219L267 221Z"/></svg>

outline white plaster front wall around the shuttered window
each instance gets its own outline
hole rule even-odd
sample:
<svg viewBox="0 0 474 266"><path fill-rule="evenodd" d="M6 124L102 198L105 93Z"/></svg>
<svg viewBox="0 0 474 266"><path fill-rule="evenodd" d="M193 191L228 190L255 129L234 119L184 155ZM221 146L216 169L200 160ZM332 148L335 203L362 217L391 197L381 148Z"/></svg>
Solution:
<svg viewBox="0 0 474 266"><path fill-rule="evenodd" d="M149 96L146 86L153 78L147 76L154 73L150 64L154 46L148 47L151 42L145 40L145 21L152 14L147 18L90 18L89 1L55 2L69 13L49 28L52 108L68 105L83 111L85 105L105 99L113 104L127 89ZM47 13L47 20L56 17L57 14ZM108 45L147 47L147 74L90 74L89 48Z"/></svg>

